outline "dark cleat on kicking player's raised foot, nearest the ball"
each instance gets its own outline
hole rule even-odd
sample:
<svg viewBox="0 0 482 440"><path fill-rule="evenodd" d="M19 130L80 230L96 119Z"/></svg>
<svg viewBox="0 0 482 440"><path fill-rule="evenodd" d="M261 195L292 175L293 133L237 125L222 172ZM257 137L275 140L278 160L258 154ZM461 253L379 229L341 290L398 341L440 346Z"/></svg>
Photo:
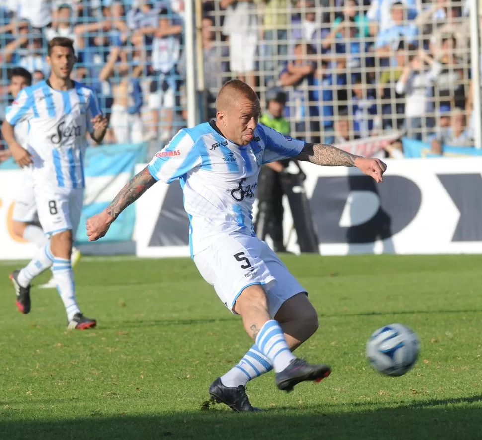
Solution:
<svg viewBox="0 0 482 440"><path fill-rule="evenodd" d="M331 373L328 365L311 365L303 359L293 359L283 371L276 373L276 385L281 391L293 391L296 384L307 380L321 382Z"/></svg>

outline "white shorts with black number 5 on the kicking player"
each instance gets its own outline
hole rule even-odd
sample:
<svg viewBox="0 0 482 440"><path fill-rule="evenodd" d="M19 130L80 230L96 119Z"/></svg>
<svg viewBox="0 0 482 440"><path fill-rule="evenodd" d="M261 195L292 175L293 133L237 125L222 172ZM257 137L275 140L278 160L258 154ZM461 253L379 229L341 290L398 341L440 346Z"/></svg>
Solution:
<svg viewBox="0 0 482 440"><path fill-rule="evenodd" d="M209 248L194 255L194 263L231 311L241 292L253 284L263 286L272 318L287 299L306 292L278 256L257 237L220 235Z"/></svg>

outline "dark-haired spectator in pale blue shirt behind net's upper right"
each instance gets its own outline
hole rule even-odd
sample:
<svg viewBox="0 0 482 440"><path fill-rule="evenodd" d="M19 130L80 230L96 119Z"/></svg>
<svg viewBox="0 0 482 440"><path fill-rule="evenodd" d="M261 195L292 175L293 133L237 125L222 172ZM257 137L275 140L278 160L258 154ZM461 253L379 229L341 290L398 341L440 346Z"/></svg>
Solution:
<svg viewBox="0 0 482 440"><path fill-rule="evenodd" d="M417 27L407 20L407 9L403 2L392 3L390 14L393 24L380 30L375 41L377 55L380 57L388 56L396 50L401 41L406 44L416 43Z"/></svg>

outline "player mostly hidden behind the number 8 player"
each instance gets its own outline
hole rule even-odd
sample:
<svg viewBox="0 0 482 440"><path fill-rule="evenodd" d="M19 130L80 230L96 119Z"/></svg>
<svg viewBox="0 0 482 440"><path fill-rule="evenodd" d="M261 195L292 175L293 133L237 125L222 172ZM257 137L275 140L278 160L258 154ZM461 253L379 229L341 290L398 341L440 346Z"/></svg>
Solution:
<svg viewBox="0 0 482 440"><path fill-rule="evenodd" d="M9 93L15 99L20 90L32 85L32 74L23 67L15 67L10 73L10 84L8 86ZM8 113L7 109L7 113ZM15 138L20 145L26 147L28 132L27 121L19 122L15 126ZM48 237L38 226L37 206L35 205L35 194L33 190L33 179L31 167L27 166L23 169L23 179L20 188L17 188L15 204L12 215L12 228L14 234L23 237L25 240L36 244L39 248L45 246ZM80 252L76 248L72 248L72 267L79 261ZM39 287L56 287L54 278Z"/></svg>

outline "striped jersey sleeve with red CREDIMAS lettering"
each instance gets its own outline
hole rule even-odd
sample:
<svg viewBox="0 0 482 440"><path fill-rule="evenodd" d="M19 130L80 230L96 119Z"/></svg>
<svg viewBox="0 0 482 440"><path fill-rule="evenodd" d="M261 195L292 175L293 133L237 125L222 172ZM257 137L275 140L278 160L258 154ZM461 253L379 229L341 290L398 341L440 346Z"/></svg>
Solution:
<svg viewBox="0 0 482 440"><path fill-rule="evenodd" d="M156 180L171 183L189 171L201 166L202 157L189 133L180 130L148 165Z"/></svg>

